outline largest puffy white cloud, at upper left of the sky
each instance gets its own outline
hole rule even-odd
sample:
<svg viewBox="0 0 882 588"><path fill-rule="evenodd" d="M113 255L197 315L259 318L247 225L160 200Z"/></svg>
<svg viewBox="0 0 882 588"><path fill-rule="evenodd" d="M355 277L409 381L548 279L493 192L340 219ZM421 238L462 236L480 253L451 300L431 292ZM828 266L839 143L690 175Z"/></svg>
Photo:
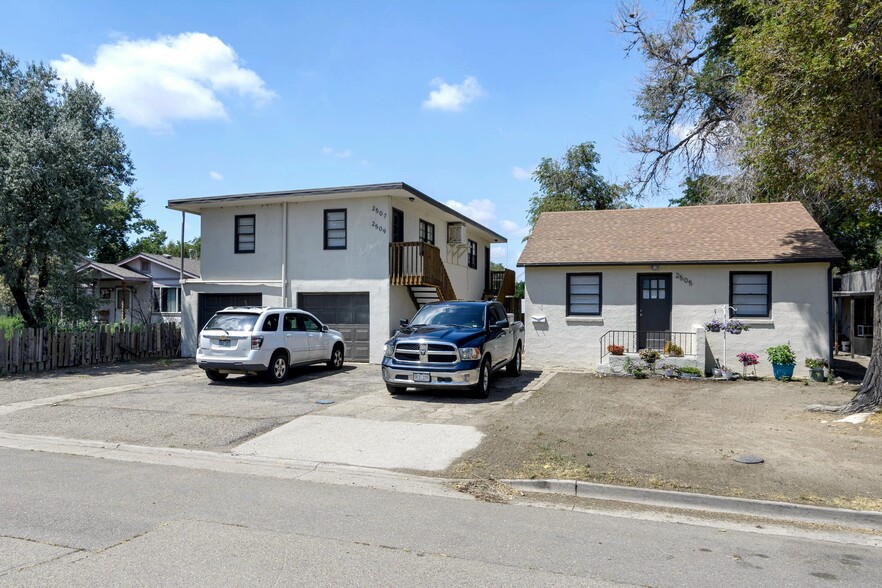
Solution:
<svg viewBox="0 0 882 588"><path fill-rule="evenodd" d="M63 80L95 84L122 119L154 130L176 120L226 119L221 94L261 106L275 97L254 71L239 66L232 47L205 33L120 39L101 45L95 62L71 55L52 61Z"/></svg>

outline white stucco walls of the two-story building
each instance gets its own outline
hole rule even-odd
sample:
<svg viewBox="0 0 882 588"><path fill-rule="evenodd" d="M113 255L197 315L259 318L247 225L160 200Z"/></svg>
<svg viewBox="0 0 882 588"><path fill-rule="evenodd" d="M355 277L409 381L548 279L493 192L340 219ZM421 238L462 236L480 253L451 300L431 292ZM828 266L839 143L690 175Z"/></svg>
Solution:
<svg viewBox="0 0 882 588"><path fill-rule="evenodd" d="M459 298L479 299L484 290L484 248L489 238L468 227L468 238L478 243L478 268L468 267L468 248L447 245L447 223L453 215L419 199L376 197L328 198L289 202L287 205L288 254L283 292L284 207L259 206L207 208L202 213L202 280L185 288L183 321L185 355L195 353L198 293L262 292L265 305L297 302L300 293L355 293L370 295L370 361L382 361L383 344L402 317L415 307L406 288L389 285L389 243L392 208L404 213L404 240L419 240L419 221L435 225L435 246L446 260L448 275ZM324 210L346 209L346 249L324 249ZM255 215L255 253L235 253L235 216ZM260 287L244 282L263 281ZM390 295L390 290L394 292Z"/></svg>

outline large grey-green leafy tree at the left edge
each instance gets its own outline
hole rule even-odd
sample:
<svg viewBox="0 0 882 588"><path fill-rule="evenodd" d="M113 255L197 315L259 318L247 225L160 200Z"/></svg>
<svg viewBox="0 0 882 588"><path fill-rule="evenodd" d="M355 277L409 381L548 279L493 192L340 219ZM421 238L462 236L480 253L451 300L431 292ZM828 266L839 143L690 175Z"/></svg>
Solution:
<svg viewBox="0 0 882 588"><path fill-rule="evenodd" d="M132 163L112 113L82 83L0 52L0 276L25 324L46 324L53 281L93 246Z"/></svg>

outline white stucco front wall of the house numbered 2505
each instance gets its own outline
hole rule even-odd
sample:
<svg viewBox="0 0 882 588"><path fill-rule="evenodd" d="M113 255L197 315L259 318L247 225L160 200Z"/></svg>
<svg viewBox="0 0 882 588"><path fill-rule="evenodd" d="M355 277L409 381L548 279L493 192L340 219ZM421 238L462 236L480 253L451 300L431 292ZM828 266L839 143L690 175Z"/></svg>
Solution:
<svg viewBox="0 0 882 588"><path fill-rule="evenodd" d="M732 271L771 271L772 311L767 319L740 319L751 328L740 335L727 336L725 363L729 367L740 371L735 356L747 351L760 356L757 373L771 375L766 348L788 342L797 355L797 375L805 371L803 361L807 356L827 357L826 263L659 266L655 273L672 274L671 330L694 332L714 318L714 308L728 304ZM566 316L566 274L581 272L603 275L603 309L599 317ZM604 333L637 329L636 280L637 274L644 273L653 271L648 266L527 267L525 361L537 367L594 369L600 361L600 338ZM531 320L539 316L545 317L544 323ZM721 333L707 333L706 351L709 362L724 361Z"/></svg>

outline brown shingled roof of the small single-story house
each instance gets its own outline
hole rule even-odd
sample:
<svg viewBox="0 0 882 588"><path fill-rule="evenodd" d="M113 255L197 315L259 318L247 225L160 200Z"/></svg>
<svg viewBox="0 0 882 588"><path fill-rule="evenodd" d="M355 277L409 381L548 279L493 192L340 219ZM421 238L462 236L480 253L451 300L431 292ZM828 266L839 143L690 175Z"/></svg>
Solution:
<svg viewBox="0 0 882 588"><path fill-rule="evenodd" d="M545 212L518 266L839 261L799 202Z"/></svg>

